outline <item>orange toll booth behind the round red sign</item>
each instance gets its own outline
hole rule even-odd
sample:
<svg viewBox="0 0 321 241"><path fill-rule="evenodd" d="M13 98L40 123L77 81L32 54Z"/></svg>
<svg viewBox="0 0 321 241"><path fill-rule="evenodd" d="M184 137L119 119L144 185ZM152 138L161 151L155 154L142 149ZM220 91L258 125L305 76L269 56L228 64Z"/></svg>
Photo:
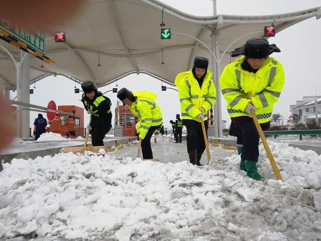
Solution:
<svg viewBox="0 0 321 241"><path fill-rule="evenodd" d="M66 111L69 113L72 113L72 116L75 119L75 133L76 133L76 137L79 136L85 136L85 128L84 128L84 108L82 107L78 107L76 105L59 105L58 106L58 110L62 110L62 111ZM58 113L59 117L62 120L62 124L61 124L61 133L62 136L66 136L67 135L67 131L65 129L65 122L67 121L67 119L69 119L69 115L66 114L60 114Z"/></svg>

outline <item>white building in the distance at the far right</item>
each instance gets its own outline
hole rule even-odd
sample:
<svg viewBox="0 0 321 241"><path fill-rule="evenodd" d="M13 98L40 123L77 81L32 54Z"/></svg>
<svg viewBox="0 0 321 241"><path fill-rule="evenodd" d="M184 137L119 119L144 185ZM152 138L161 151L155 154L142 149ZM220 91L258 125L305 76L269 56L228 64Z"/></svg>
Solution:
<svg viewBox="0 0 321 241"><path fill-rule="evenodd" d="M321 96L303 96L303 100L290 105L290 112L301 116L304 123L315 121L317 115L317 122L321 123Z"/></svg>

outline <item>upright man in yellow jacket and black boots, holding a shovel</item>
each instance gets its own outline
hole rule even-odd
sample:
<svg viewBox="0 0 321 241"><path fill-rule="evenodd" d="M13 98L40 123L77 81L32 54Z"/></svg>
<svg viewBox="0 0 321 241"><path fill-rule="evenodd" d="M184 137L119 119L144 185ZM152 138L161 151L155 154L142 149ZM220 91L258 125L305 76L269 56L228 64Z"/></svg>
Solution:
<svg viewBox="0 0 321 241"><path fill-rule="evenodd" d="M205 151L205 141L201 122L207 134L207 111L216 102L216 89L208 68L209 60L196 57L193 68L176 76L175 85L179 88L183 125L187 129L187 152L190 163L202 166L201 157Z"/></svg>

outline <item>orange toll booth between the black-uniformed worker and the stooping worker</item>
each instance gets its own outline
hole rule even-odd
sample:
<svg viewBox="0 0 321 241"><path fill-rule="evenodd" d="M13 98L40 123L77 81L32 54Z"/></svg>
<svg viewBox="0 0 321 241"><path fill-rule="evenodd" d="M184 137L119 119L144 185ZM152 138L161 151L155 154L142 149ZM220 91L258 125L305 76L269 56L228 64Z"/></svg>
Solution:
<svg viewBox="0 0 321 241"><path fill-rule="evenodd" d="M130 111L127 105L122 105L121 101L117 101L117 107L115 108L115 135L116 127L121 129L123 137L126 136L136 136L135 125L138 122L138 119ZM120 135L117 135L118 137Z"/></svg>

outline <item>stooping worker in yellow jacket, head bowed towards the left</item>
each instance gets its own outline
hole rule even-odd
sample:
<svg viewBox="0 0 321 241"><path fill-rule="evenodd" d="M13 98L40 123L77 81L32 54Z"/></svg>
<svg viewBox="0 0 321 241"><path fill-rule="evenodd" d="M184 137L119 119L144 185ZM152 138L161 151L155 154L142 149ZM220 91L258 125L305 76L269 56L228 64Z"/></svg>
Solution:
<svg viewBox="0 0 321 241"><path fill-rule="evenodd" d="M150 138L154 131L163 124L161 108L154 102L157 95L148 91L131 92L122 88L117 93L117 98L129 106L130 111L139 119L141 151L143 159L153 159Z"/></svg>

